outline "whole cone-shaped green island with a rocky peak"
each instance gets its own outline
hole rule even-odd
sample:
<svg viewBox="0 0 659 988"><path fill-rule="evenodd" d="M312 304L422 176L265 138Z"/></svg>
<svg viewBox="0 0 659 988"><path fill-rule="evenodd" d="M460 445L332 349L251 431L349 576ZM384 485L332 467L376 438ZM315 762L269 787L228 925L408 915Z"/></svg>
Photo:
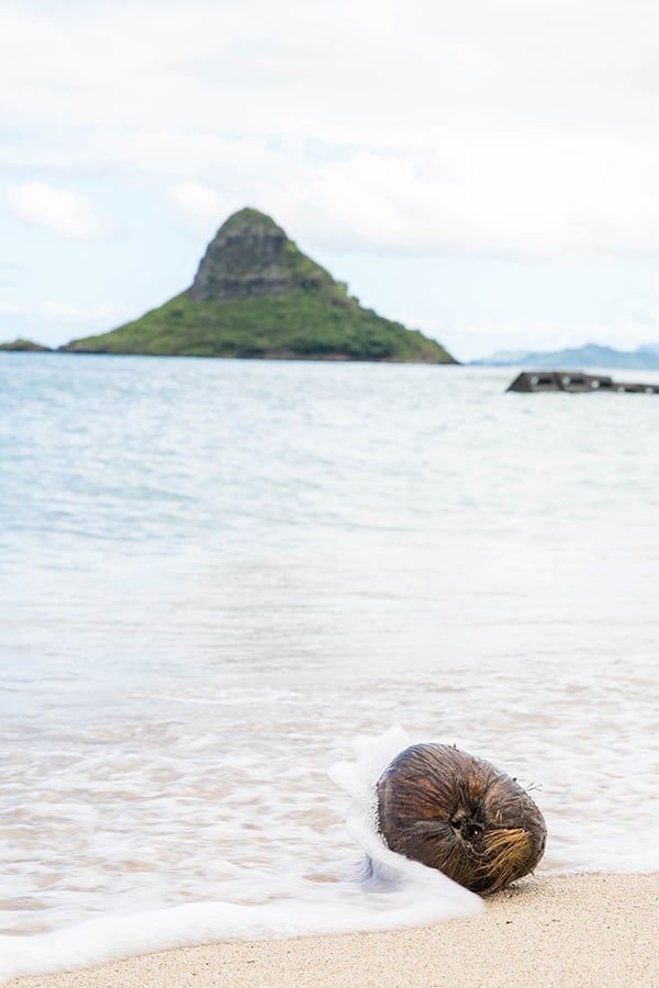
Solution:
<svg viewBox="0 0 659 988"><path fill-rule="evenodd" d="M192 285L74 353L456 363L434 339L364 308L264 213L219 229Z"/></svg>

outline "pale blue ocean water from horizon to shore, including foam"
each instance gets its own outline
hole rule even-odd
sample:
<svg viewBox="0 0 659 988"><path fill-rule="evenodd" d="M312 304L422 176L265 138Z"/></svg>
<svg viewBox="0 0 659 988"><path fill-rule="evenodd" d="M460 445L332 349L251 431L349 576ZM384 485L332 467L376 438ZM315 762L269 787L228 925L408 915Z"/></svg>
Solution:
<svg viewBox="0 0 659 988"><path fill-rule="evenodd" d="M512 377L0 357L0 976L478 909L378 841L407 739L657 868L659 398Z"/></svg>

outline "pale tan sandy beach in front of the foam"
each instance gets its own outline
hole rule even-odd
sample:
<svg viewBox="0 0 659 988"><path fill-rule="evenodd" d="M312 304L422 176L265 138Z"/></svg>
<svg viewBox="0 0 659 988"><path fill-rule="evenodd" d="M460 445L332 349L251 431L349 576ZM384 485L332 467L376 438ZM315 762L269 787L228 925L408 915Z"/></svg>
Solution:
<svg viewBox="0 0 659 988"><path fill-rule="evenodd" d="M651 986L658 903L657 874L530 877L426 929L186 947L9 988Z"/></svg>

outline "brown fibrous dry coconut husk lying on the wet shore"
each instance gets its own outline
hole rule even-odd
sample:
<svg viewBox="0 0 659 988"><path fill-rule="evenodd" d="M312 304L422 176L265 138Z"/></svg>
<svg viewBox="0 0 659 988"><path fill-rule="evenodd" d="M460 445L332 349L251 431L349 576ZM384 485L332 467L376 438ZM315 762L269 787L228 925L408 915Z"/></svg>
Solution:
<svg viewBox="0 0 659 988"><path fill-rule="evenodd" d="M547 837L514 778L449 744L396 755L378 782L378 820L392 851L481 894L533 871Z"/></svg>

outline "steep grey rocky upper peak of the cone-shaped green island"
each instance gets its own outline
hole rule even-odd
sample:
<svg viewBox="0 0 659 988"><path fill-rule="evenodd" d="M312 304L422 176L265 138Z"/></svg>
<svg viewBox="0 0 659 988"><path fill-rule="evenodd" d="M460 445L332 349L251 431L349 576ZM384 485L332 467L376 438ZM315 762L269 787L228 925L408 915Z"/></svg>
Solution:
<svg viewBox="0 0 659 988"><path fill-rule="evenodd" d="M333 283L332 276L305 257L273 220L245 209L230 216L209 244L189 296L196 302L247 299Z"/></svg>

